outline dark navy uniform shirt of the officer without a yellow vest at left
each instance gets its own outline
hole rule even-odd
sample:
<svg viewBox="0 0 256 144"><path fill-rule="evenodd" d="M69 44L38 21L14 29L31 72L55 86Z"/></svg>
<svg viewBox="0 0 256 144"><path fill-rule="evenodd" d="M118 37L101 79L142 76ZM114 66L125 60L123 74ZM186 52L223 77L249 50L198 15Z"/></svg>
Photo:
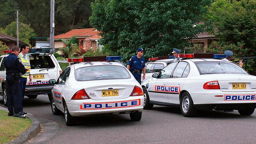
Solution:
<svg viewBox="0 0 256 144"><path fill-rule="evenodd" d="M26 69L24 65L22 65L19 56L13 53L9 54L6 59L4 59L4 66L6 68L6 75L26 73Z"/></svg>

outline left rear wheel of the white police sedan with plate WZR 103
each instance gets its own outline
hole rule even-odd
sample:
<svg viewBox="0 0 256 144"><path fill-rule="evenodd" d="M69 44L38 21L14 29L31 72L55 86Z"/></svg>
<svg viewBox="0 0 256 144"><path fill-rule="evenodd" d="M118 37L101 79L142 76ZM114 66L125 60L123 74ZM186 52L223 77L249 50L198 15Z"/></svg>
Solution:
<svg viewBox="0 0 256 144"><path fill-rule="evenodd" d="M180 110L185 117L193 117L197 113L197 109L195 109L193 100L188 92L184 92L181 96Z"/></svg>

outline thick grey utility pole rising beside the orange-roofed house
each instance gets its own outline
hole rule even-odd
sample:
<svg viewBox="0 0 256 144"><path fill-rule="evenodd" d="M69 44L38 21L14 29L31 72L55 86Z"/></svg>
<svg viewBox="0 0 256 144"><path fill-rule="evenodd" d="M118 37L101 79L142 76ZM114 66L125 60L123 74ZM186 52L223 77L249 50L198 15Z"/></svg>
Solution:
<svg viewBox="0 0 256 144"><path fill-rule="evenodd" d="M50 48L54 48L54 6L55 0L51 0L51 18L50 18Z"/></svg>

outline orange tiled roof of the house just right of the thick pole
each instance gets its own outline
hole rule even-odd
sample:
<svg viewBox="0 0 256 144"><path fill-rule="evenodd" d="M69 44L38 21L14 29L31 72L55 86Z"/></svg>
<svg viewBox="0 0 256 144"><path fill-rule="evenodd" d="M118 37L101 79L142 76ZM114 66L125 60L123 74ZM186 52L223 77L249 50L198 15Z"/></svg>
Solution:
<svg viewBox="0 0 256 144"><path fill-rule="evenodd" d="M87 33L87 32L94 31L94 30L95 30L95 28L74 29L74 30L68 31L67 33L56 35L56 36L54 36L54 39L69 39L75 35L80 35L82 33Z"/></svg>

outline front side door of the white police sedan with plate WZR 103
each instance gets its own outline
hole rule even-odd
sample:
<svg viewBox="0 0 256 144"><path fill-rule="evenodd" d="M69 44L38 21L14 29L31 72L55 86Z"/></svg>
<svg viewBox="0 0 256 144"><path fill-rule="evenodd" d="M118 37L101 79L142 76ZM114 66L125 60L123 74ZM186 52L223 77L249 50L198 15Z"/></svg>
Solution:
<svg viewBox="0 0 256 144"><path fill-rule="evenodd" d="M151 83L148 85L148 95L150 101L165 102L168 103L167 97L167 83L171 77L173 69L176 66L175 63L171 63L159 72L158 78L152 78Z"/></svg>

